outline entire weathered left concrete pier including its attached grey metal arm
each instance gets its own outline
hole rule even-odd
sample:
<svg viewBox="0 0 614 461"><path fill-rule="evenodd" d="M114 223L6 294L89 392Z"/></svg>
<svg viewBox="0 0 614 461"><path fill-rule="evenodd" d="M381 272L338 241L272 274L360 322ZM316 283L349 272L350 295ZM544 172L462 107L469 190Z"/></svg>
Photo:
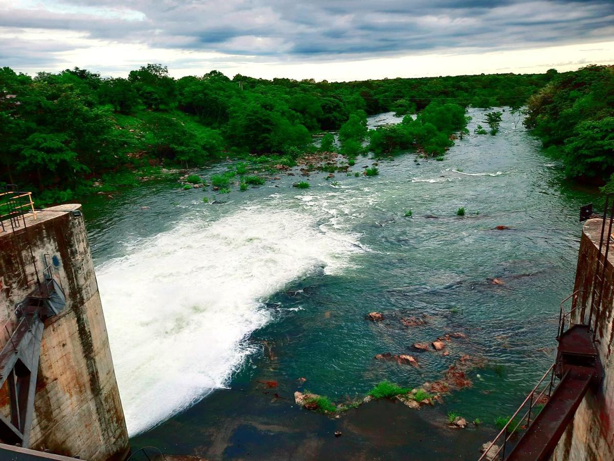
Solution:
<svg viewBox="0 0 614 461"><path fill-rule="evenodd" d="M0 229L0 441L122 460L128 433L80 210Z"/></svg>

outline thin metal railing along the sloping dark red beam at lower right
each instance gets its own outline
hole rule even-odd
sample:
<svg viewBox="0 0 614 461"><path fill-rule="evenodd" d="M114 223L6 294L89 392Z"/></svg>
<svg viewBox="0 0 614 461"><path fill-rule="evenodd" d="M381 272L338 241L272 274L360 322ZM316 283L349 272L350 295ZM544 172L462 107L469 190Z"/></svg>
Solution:
<svg viewBox="0 0 614 461"><path fill-rule="evenodd" d="M550 379L548 378L550 375ZM550 396L552 395L552 390L554 387L554 379L556 376L554 375L554 363L551 364L548 371L546 371L542 379L535 385L533 390L527 395L527 398L524 399L523 403L518 407L516 412L510 417L507 424L501 429L499 434L494 438L494 440L489 444L488 448L481 455L478 461L482 461L485 459L497 459L500 456L501 460L505 460L505 449L507 448L507 444L510 439L515 435L518 428L529 428L531 424L531 417L535 420L535 417L539 413L538 411L534 411L535 406L543 406ZM541 389L541 390L540 390ZM519 420L516 420L519 414L526 408L522 417ZM526 424L523 422L526 421ZM497 445L497 441L500 440L501 445ZM494 452L491 450L494 447L497 447Z"/></svg>

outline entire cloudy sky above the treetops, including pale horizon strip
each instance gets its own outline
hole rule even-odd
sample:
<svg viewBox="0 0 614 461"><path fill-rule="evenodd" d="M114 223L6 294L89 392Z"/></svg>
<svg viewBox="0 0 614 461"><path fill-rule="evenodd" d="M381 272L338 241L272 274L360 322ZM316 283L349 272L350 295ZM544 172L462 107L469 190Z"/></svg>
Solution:
<svg viewBox="0 0 614 461"><path fill-rule="evenodd" d="M614 63L614 0L0 0L0 66L354 81Z"/></svg>

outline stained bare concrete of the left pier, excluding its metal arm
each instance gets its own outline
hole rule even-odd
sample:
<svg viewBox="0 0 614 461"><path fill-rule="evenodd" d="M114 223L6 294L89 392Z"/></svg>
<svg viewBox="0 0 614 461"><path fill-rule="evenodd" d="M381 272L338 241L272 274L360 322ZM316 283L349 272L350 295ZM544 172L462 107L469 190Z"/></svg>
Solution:
<svg viewBox="0 0 614 461"><path fill-rule="evenodd" d="M0 327L36 287L45 255L66 296L64 309L45 320L29 448L124 459L128 433L80 205L27 215L26 224L0 232ZM5 383L0 415L7 419L9 398Z"/></svg>

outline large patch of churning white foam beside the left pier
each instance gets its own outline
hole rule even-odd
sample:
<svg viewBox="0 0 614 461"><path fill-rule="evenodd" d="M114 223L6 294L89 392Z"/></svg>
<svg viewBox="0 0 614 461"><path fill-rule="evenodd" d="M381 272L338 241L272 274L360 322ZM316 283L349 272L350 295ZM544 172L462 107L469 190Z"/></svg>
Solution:
<svg viewBox="0 0 614 461"><path fill-rule="evenodd" d="M346 267L352 235L312 216L254 207L187 219L97 268L130 435L225 387L270 320L260 299L315 266Z"/></svg>

